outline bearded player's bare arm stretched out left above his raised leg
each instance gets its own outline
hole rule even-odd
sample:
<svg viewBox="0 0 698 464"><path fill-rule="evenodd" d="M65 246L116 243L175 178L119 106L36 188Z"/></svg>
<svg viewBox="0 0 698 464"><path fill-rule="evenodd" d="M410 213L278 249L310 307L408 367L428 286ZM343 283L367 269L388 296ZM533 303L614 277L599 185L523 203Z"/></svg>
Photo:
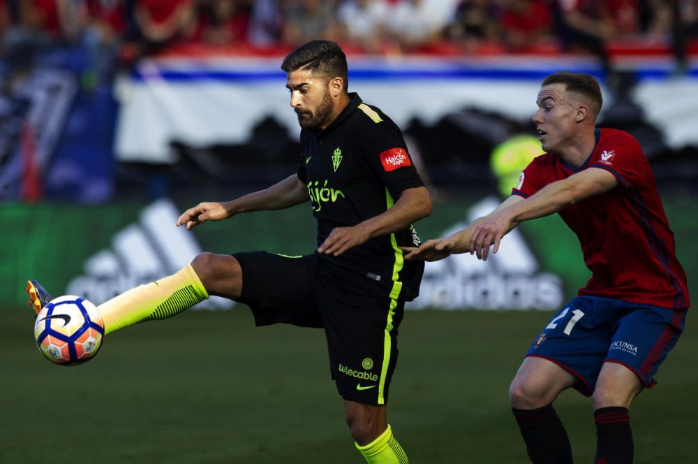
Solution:
<svg viewBox="0 0 698 464"><path fill-rule="evenodd" d="M255 191L227 202L205 202L189 208L177 219L177 226L186 224L190 231L207 221L220 221L241 212L283 210L308 201L308 189L297 175L286 177L264 190Z"/></svg>

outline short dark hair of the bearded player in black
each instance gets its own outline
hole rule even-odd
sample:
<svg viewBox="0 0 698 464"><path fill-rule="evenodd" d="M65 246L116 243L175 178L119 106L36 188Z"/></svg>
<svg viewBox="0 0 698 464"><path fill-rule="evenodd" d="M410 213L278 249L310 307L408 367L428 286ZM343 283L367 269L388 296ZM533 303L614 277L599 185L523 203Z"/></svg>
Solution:
<svg viewBox="0 0 698 464"><path fill-rule="evenodd" d="M286 73L300 68L309 69L313 75L323 75L328 80L342 78L344 92L347 91L347 57L336 42L310 41L286 55L281 63L281 69Z"/></svg>

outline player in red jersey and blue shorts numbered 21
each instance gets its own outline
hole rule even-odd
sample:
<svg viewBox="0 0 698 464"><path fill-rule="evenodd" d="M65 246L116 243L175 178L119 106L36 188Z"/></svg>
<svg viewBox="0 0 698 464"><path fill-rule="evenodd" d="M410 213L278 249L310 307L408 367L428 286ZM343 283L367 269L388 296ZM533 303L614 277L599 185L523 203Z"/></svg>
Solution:
<svg viewBox="0 0 698 464"><path fill-rule="evenodd" d="M597 464L632 463L628 408L681 336L689 307L674 234L639 143L597 129L598 82L555 73L542 82L533 117L544 154L490 215L406 259L470 252L487 259L519 222L558 212L579 237L592 277L536 335L510 386L510 402L534 463L572 463L552 403L570 387L593 396Z"/></svg>

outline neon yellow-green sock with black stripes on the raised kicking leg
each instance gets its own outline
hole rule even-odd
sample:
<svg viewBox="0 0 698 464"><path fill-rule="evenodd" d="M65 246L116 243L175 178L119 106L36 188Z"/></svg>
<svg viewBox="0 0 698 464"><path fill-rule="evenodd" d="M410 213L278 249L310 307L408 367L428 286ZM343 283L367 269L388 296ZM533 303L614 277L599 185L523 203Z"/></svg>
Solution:
<svg viewBox="0 0 698 464"><path fill-rule="evenodd" d="M168 277L139 285L97 307L105 333L139 322L166 319L209 298L191 264Z"/></svg>

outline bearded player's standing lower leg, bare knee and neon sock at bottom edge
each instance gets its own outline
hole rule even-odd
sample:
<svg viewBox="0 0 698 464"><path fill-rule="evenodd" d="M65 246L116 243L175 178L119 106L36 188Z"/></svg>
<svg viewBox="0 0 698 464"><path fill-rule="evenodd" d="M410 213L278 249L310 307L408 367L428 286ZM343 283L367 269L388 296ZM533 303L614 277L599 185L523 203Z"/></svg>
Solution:
<svg viewBox="0 0 698 464"><path fill-rule="evenodd" d="M387 423L385 406L344 401L344 412L357 449L369 464L407 464L405 451Z"/></svg>

